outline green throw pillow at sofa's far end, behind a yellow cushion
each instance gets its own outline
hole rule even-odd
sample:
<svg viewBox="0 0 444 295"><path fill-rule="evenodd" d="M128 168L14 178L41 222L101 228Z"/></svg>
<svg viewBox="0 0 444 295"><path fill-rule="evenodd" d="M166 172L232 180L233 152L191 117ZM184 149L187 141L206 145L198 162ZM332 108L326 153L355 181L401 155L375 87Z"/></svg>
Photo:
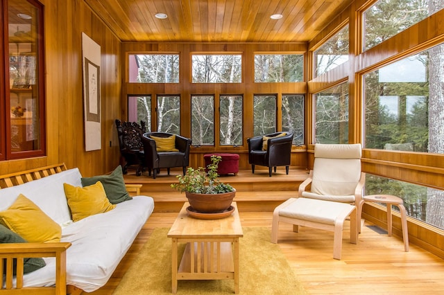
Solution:
<svg viewBox="0 0 444 295"><path fill-rule="evenodd" d="M118 204L132 199L126 190L122 166L120 165L110 175L83 177L81 180L82 186L91 186L100 181L111 204Z"/></svg>

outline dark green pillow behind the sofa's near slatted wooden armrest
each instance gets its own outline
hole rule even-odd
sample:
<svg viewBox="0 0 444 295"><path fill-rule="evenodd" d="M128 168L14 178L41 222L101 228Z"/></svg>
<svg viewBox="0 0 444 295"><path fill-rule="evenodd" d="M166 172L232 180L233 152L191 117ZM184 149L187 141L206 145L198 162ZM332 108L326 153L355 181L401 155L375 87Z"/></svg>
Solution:
<svg viewBox="0 0 444 295"><path fill-rule="evenodd" d="M26 243L26 240L21 236L17 235L17 233L11 231L6 226L0 224L0 243ZM14 259L12 261L13 264L13 273L17 274L17 260ZM43 258L24 258L23 263L23 272L24 274L28 274L31 271L35 271L44 267L46 263ZM3 274L6 274L6 259L3 260Z"/></svg>

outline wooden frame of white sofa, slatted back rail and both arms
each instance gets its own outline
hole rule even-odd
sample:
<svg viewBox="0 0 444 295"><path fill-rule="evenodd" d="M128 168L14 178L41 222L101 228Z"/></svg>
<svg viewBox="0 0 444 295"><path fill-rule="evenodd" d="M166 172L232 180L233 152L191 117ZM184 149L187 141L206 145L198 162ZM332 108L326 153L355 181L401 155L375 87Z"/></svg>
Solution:
<svg viewBox="0 0 444 295"><path fill-rule="evenodd" d="M0 176L0 189L18 186L29 181L41 179L67 170L65 163ZM140 195L141 184L126 184L128 193ZM58 243L19 243L0 244L0 262L6 259L6 277L0 276L1 294L81 294L82 289L67 285L66 251L71 247L69 242ZM23 287L24 258L55 257L56 285L52 287ZM17 282L13 284L12 261L17 259ZM0 263L0 274L3 274L3 263Z"/></svg>

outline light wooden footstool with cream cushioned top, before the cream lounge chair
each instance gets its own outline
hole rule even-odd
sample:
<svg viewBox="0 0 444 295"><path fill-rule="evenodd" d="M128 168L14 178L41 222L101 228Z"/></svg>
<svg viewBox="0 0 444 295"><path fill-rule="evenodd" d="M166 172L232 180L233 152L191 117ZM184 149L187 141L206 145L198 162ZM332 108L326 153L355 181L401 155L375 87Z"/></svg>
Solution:
<svg viewBox="0 0 444 295"><path fill-rule="evenodd" d="M333 258L341 259L342 231L345 218L350 216L350 242L357 244L357 208L356 206L323 201L320 199L291 198L280 204L273 212L271 242L278 242L279 222L293 224L293 231L298 227L308 226L334 232Z"/></svg>

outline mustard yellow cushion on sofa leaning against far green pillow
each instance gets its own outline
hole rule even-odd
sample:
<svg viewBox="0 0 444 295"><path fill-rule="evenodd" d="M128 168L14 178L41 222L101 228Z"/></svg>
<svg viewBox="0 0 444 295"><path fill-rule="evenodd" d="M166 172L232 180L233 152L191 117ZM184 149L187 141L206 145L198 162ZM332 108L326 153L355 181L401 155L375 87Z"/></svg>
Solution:
<svg viewBox="0 0 444 295"><path fill-rule="evenodd" d="M63 184L63 188L74 222L90 215L108 212L116 207L106 197L105 189L100 181L84 188Z"/></svg>

